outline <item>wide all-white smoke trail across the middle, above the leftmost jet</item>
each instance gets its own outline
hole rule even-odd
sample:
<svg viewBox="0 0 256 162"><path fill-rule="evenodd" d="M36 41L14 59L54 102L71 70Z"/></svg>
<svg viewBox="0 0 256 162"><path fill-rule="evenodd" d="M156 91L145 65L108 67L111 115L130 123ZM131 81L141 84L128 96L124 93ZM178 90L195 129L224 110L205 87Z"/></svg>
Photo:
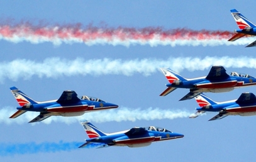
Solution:
<svg viewBox="0 0 256 162"><path fill-rule="evenodd" d="M189 71L205 70L213 65L225 65L225 68L256 68L256 58L238 57L179 57L169 59L90 59L77 58L74 60L47 58L43 62L29 59L15 59L10 62L0 62L0 82L5 79L17 81L19 78L59 78L61 76L102 76L121 74L131 76L135 73L150 76L159 72L159 68L170 67L176 72L184 69ZM118 67L118 68L116 68Z"/></svg>

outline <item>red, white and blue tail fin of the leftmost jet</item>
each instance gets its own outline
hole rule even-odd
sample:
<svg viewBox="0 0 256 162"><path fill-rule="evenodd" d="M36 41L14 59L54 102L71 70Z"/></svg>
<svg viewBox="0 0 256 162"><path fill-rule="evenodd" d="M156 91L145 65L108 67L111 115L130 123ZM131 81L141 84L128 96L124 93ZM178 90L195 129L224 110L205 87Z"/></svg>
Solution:
<svg viewBox="0 0 256 162"><path fill-rule="evenodd" d="M30 97L28 97L25 93L20 91L16 87L11 87L11 93L13 93L14 98L16 98L17 102L19 103L19 106L24 106L25 104L36 104L38 102L34 101Z"/></svg>

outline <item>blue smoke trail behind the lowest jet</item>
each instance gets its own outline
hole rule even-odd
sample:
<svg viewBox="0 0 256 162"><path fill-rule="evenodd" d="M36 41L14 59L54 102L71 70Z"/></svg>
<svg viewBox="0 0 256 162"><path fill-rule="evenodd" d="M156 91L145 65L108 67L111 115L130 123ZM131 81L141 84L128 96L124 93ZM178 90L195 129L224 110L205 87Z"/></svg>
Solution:
<svg viewBox="0 0 256 162"><path fill-rule="evenodd" d="M35 153L55 153L58 151L72 151L81 146L81 142L58 143L0 143L0 156L11 156L14 154L35 154Z"/></svg>

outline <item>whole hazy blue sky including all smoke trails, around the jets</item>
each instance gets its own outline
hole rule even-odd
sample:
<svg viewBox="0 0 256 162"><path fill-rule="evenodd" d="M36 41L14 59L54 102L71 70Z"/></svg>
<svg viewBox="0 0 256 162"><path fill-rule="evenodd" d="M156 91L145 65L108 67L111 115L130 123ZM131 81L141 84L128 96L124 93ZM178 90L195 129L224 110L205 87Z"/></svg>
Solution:
<svg viewBox="0 0 256 162"><path fill-rule="evenodd" d="M256 23L255 4L0 1L0 160L255 160L256 116L208 121L216 113L206 113L189 119L198 104L194 99L179 101L187 89L159 96L168 83L161 67L185 78L205 76L212 65L256 76L256 49L245 48L256 38L226 41L238 29L230 9ZM214 35L224 31L228 34ZM82 37L79 32L88 34ZM64 90L72 89L79 96L94 96L120 107L30 124L38 113L9 119L18 106L9 90L12 86L36 101L58 99ZM206 95L227 101L247 91L256 94L256 87ZM144 148L77 148L88 138L80 124L86 120L106 133L160 126L185 136Z"/></svg>

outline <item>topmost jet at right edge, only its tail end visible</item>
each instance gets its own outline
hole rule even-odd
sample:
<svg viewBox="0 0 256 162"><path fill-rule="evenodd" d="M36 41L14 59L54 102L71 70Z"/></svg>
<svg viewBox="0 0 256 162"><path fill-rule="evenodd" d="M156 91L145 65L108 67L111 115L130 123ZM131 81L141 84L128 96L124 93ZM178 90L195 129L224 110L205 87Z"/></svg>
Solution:
<svg viewBox="0 0 256 162"><path fill-rule="evenodd" d="M237 22L237 25L240 29L235 30L237 34L233 36L232 38L228 39L228 41L236 41L239 38L242 38L243 36L256 36L256 26L251 21L249 21L245 16L243 16L241 13L237 11L237 9L231 9L231 14L235 21ZM256 41L249 44L246 47L253 47L256 46Z"/></svg>

